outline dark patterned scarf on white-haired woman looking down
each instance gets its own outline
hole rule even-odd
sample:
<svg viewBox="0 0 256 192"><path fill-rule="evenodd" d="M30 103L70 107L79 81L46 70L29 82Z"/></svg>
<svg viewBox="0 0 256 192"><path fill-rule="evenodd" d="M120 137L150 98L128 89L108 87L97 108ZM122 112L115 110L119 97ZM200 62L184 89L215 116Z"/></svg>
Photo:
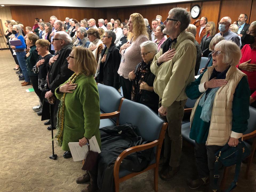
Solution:
<svg viewBox="0 0 256 192"><path fill-rule="evenodd" d="M148 64L144 61L139 64L138 69L135 71L136 76L133 80L133 86L131 90L131 100L139 102L140 96L141 96L141 90L139 89L139 86L143 81L145 81L145 77L150 72L150 64L152 61L150 61Z"/></svg>

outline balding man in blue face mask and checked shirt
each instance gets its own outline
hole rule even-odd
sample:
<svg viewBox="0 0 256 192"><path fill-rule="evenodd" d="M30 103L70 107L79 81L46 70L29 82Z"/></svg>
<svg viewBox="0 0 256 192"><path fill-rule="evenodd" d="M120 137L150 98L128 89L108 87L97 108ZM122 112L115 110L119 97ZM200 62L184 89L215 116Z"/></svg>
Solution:
<svg viewBox="0 0 256 192"><path fill-rule="evenodd" d="M223 17L221 21L219 21L219 31L220 33L217 33L217 35L222 35L225 40L233 41L235 44L237 44L239 47L241 47L240 44L240 38L238 37L237 34L234 32L230 31L229 26L231 25L231 18L230 17Z"/></svg>

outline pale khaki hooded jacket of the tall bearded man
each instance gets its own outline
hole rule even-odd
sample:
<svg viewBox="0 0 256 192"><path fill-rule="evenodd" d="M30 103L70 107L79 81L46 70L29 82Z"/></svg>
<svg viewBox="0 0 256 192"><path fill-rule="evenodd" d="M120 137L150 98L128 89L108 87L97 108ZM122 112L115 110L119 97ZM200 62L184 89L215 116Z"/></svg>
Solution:
<svg viewBox="0 0 256 192"><path fill-rule="evenodd" d="M156 76L154 91L162 98L162 106L169 107L174 101L187 99L185 89L195 80L195 62L197 49L194 45L195 37L192 33L183 31L173 42L175 48L173 59L158 66L156 61L162 55L162 49L155 55L150 70Z"/></svg>

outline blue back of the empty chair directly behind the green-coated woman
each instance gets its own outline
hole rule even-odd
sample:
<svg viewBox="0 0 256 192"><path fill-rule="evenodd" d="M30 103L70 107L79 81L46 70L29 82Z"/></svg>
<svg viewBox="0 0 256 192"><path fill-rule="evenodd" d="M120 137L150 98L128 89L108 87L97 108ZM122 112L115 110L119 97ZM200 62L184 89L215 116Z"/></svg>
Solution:
<svg viewBox="0 0 256 192"><path fill-rule="evenodd" d="M99 108L104 113L118 111L122 95L111 86L98 83Z"/></svg>

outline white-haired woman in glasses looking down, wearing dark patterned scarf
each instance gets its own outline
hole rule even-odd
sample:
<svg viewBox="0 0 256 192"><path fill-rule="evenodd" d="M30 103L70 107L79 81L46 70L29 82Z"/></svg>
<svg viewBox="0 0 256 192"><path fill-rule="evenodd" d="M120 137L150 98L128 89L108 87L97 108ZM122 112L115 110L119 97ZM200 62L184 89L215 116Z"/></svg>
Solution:
<svg viewBox="0 0 256 192"><path fill-rule="evenodd" d="M129 80L133 81L131 100L142 103L158 114L159 96L154 92L155 75L150 71L150 64L157 54L157 45L152 41L141 43L143 61L136 66L135 72L129 73Z"/></svg>

